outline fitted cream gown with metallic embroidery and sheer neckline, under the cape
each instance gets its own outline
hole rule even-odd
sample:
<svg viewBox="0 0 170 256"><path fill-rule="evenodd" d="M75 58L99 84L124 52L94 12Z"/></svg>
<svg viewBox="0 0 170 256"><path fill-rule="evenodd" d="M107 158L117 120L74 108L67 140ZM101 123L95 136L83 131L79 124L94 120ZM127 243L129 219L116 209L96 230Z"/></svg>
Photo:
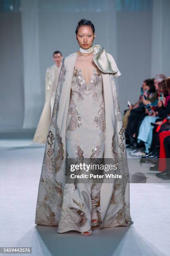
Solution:
<svg viewBox="0 0 170 256"><path fill-rule="evenodd" d="M66 157L103 158L105 105L101 71L90 56L77 55L66 124ZM65 184L58 232L90 230L99 217L101 183Z"/></svg>

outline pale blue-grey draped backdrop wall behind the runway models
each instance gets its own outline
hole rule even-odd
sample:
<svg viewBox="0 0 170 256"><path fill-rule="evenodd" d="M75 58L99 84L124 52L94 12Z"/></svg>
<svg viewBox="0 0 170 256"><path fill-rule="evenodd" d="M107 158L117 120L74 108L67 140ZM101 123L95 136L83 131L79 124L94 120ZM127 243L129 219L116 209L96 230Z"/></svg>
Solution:
<svg viewBox="0 0 170 256"><path fill-rule="evenodd" d="M122 113L127 99L138 100L144 79L170 75L169 0L2 2L6 9L1 3L1 129L36 127L52 53L60 50L65 57L78 50L75 28L81 18L94 23L94 43L112 54L122 73L116 79Z"/></svg>

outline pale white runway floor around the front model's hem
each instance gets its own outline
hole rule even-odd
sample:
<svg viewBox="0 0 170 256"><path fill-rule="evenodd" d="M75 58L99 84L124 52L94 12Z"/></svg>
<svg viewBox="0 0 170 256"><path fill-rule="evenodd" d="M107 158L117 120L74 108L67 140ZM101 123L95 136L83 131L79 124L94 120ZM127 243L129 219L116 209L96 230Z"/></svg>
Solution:
<svg viewBox="0 0 170 256"><path fill-rule="evenodd" d="M57 227L36 225L44 150L43 145L30 140L0 141L1 247L32 247L31 255L35 256L170 255L170 183L165 181L130 184L134 223L129 227L95 229L92 236L85 237L76 232L59 234ZM134 172L160 182L155 172L148 171L150 165L134 165Z"/></svg>

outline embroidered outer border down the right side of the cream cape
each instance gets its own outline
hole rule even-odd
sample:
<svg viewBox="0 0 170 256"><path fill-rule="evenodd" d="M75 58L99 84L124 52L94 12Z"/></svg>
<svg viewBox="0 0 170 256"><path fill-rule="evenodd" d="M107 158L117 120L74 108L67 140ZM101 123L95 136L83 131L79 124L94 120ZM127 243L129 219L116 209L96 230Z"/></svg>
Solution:
<svg viewBox="0 0 170 256"><path fill-rule="evenodd" d="M130 225L130 204L129 204L129 171L128 159L125 147L125 133L122 125L120 114L120 104L117 96L115 80L110 74L110 82L112 86L113 104L115 112L114 131L112 136L111 153L113 160L118 164L117 171L122 175L122 179L115 182L112 198L110 201L110 209L115 209L119 205L122 208L117 212L116 225Z"/></svg>

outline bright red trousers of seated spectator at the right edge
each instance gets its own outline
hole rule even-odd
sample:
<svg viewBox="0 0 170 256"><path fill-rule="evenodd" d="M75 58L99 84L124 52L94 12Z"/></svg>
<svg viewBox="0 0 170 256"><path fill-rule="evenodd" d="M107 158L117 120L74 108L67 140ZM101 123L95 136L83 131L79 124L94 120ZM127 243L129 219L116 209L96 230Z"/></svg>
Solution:
<svg viewBox="0 0 170 256"><path fill-rule="evenodd" d="M159 134L159 139L160 139L160 155L159 155L159 167L158 170L160 172L165 171L167 165L166 165L166 152L165 152L165 147L164 147L164 139L170 136L170 131L163 131L162 133Z"/></svg>

